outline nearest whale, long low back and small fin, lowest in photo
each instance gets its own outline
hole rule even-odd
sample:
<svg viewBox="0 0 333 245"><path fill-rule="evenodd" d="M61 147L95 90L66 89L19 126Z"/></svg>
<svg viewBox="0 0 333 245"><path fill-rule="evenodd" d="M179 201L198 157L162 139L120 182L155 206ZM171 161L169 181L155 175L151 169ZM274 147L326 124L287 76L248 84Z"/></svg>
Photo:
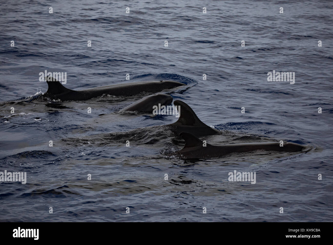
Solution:
<svg viewBox="0 0 333 245"><path fill-rule="evenodd" d="M240 144L210 145L203 142L191 133L182 132L180 136L185 140L185 146L177 152L180 158L185 159L205 159L213 157L223 157L227 154L239 152L250 152L255 150L280 151L280 152L305 152L310 149L292 142L285 142L280 146L280 142L256 142Z"/></svg>

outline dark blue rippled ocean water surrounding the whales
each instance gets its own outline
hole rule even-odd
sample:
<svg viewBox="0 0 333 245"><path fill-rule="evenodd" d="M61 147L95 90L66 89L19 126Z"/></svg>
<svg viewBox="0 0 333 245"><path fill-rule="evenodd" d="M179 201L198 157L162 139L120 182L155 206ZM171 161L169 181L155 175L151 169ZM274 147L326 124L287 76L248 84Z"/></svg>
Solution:
<svg viewBox="0 0 333 245"><path fill-rule="evenodd" d="M26 184L0 184L1 221L333 221L332 1L1 0L0 8L0 172L27 173ZM181 160L182 139L164 127L174 115L117 113L145 94L54 101L43 95L44 70L67 72L74 90L183 82L163 92L221 131L200 137L207 143L312 149ZM295 72L295 83L267 81L273 70ZM255 172L256 183L228 181L234 170Z"/></svg>

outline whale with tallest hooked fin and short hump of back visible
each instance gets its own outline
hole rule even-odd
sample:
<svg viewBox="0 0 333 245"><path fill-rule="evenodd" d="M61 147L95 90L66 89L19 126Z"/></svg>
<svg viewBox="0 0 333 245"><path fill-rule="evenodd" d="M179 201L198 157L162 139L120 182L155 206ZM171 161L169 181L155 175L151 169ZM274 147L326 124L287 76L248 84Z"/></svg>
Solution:
<svg viewBox="0 0 333 245"><path fill-rule="evenodd" d="M173 101L175 106L180 107L179 118L176 122L167 124L171 130L177 134L188 132L195 136L214 135L220 133L219 130L211 128L200 121L191 107L180 100Z"/></svg>

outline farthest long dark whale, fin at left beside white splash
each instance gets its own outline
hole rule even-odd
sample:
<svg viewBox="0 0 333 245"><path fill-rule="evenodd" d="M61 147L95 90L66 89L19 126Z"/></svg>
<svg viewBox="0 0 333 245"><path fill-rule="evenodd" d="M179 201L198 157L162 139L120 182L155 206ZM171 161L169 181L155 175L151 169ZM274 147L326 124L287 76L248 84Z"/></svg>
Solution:
<svg viewBox="0 0 333 245"><path fill-rule="evenodd" d="M89 100L95 97L102 96L103 94L109 94L113 96L133 96L141 93L154 93L160 92L165 89L171 89L186 84L161 80L161 81L143 81L133 83L120 83L114 85L106 85L100 87L93 87L85 90L71 90L65 88L58 80L49 76L45 77L48 84L48 90L45 95L52 99L59 99L62 101L71 100Z"/></svg>

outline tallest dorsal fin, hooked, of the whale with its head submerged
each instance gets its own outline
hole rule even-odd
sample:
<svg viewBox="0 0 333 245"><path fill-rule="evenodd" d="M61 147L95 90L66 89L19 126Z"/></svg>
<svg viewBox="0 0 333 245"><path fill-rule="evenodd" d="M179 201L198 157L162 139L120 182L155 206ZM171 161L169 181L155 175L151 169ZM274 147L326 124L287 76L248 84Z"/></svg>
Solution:
<svg viewBox="0 0 333 245"><path fill-rule="evenodd" d="M187 126L205 126L209 127L203 122L200 121L200 119L195 115L194 111L191 107L189 107L185 102L182 102L180 100L175 100L173 102L175 106L180 106L180 116L178 120L174 123L171 123L170 125L179 126L179 125L187 125Z"/></svg>

